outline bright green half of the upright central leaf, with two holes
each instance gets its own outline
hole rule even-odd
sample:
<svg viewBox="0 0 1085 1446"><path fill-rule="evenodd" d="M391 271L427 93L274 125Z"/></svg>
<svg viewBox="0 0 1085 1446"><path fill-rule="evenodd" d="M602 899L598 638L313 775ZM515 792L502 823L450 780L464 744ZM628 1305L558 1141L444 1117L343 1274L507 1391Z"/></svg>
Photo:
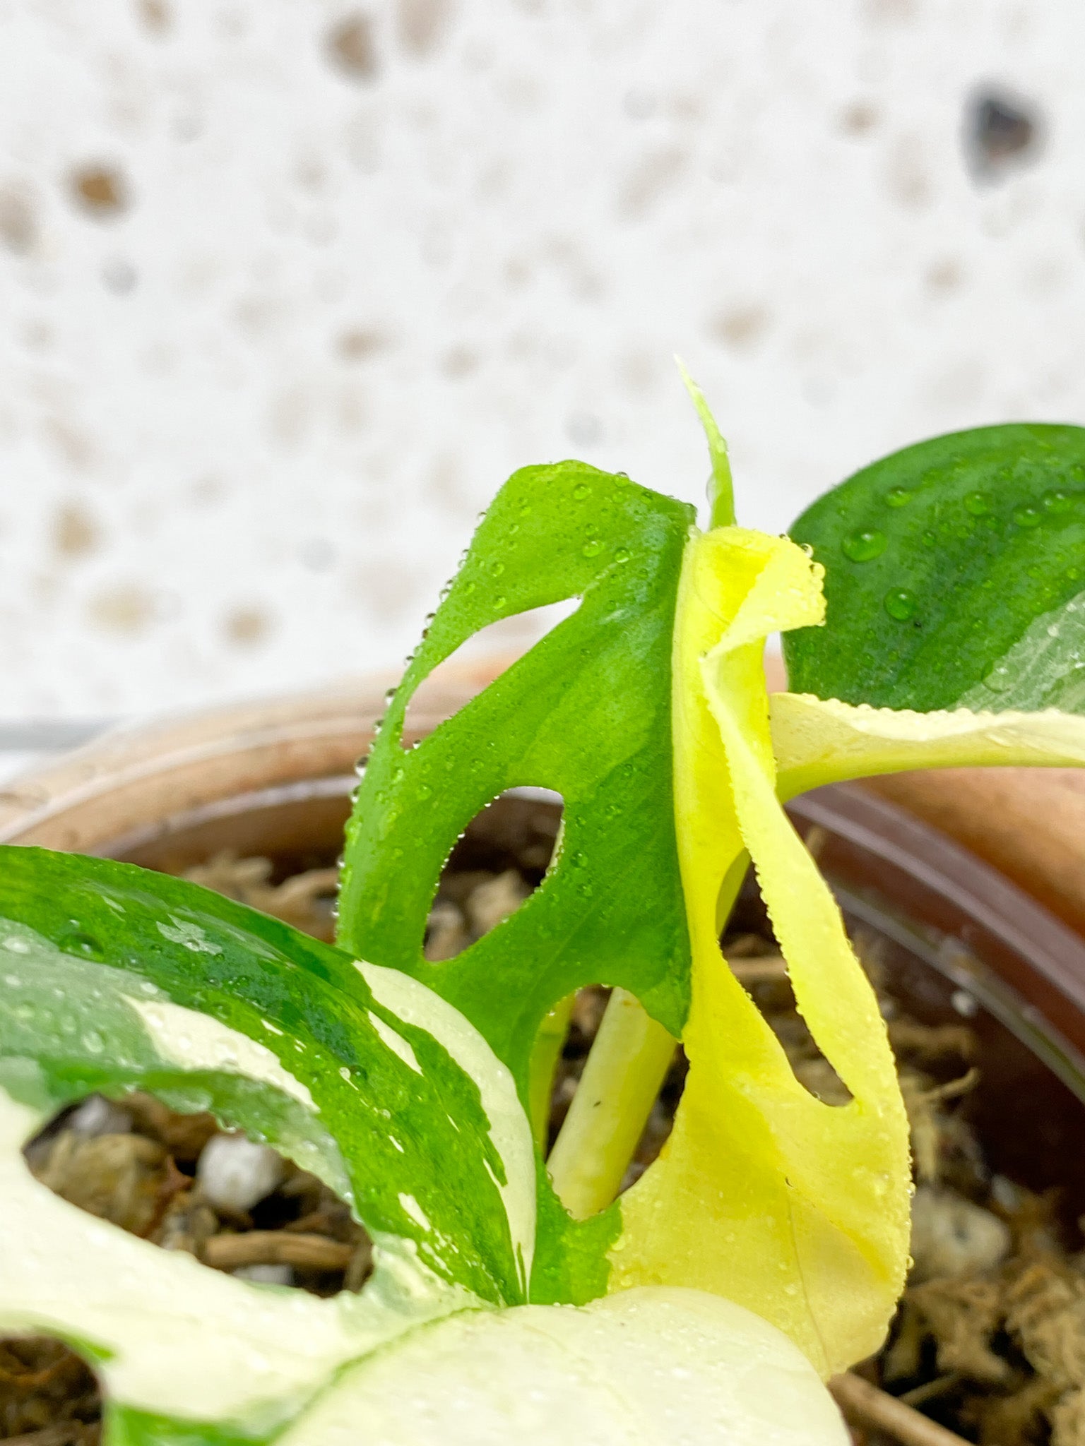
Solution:
<svg viewBox="0 0 1085 1446"><path fill-rule="evenodd" d="M622 985L671 1032L689 1009L689 940L671 823L670 654L693 509L582 463L502 487L391 700L347 830L339 938L424 979L489 1040L528 1099L544 1015L583 985ZM485 693L417 748L422 678L499 617L580 597ZM459 834L498 794L557 790L542 886L472 949L422 957Z"/></svg>

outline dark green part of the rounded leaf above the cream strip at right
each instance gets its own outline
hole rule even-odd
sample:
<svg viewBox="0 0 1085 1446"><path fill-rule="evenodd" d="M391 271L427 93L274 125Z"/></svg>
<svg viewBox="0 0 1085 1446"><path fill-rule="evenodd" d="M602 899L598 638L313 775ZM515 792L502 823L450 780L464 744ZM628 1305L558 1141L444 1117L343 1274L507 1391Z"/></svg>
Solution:
<svg viewBox="0 0 1085 1446"><path fill-rule="evenodd" d="M827 603L825 628L784 639L791 691L920 711L1085 706L1085 429L907 447L791 536L825 567Z"/></svg>

